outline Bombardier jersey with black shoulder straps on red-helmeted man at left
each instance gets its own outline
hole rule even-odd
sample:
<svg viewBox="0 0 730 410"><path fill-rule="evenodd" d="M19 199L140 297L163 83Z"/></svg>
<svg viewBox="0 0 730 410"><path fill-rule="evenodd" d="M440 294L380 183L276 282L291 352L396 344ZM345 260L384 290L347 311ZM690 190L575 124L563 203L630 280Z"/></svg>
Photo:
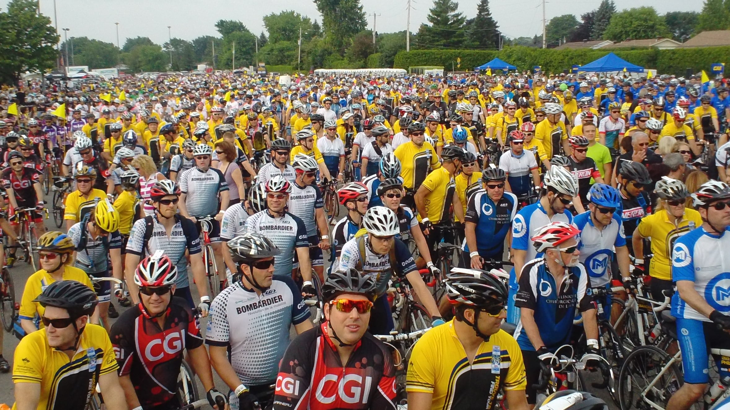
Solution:
<svg viewBox="0 0 730 410"><path fill-rule="evenodd" d="M153 255L155 250L164 250L172 263L177 266L177 280L175 286L178 289L188 287L188 260L185 259L185 250L190 255L201 252L200 236L193 221L182 215L178 215L175 224L167 236L167 230L159 223L157 214L152 218L152 236L145 244L145 231L147 231L147 218L142 218L132 225L127 241L127 253L137 255L140 258Z"/></svg>

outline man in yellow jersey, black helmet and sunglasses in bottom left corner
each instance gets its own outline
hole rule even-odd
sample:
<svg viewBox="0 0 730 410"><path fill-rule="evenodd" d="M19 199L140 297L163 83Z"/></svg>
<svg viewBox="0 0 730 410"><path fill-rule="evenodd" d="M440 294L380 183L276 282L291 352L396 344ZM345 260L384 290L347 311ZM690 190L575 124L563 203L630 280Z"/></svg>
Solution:
<svg viewBox="0 0 730 410"><path fill-rule="evenodd" d="M13 410L85 410L96 384L109 410L128 410L109 335L88 323L96 293L74 280L53 282L35 299L45 328L15 349Z"/></svg>

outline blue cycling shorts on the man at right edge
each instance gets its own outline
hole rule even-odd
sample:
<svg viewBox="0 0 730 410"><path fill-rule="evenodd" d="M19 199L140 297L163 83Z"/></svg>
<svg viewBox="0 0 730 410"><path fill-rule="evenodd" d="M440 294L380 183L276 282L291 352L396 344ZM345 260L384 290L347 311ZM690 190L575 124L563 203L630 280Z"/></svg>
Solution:
<svg viewBox="0 0 730 410"><path fill-rule="evenodd" d="M677 340L682 351L682 368L685 383L704 384L710 382L707 359L710 349L730 349L730 334L718 330L713 322L683 319L677 317ZM720 379L730 376L730 358L713 354L718 365Z"/></svg>

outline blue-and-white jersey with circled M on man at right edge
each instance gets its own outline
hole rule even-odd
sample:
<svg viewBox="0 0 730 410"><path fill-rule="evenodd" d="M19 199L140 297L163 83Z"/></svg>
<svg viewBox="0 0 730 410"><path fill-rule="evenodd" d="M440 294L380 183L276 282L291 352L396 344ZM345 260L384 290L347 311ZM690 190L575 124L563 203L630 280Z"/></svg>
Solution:
<svg viewBox="0 0 730 410"><path fill-rule="evenodd" d="M728 231L718 237L702 227L680 236L672 247L672 280L694 282L694 290L722 314L730 314L730 256L726 256L729 249ZM672 296L672 316L710 322L683 301L679 292Z"/></svg>

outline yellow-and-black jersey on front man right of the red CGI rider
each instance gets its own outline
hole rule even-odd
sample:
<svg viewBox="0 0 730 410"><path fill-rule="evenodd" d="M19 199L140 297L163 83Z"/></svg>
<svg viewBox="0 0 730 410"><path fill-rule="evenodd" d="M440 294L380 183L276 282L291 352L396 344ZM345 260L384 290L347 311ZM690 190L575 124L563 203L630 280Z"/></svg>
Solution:
<svg viewBox="0 0 730 410"><path fill-rule="evenodd" d="M483 341L469 363L454 320L426 332L413 346L407 392L431 393L431 410L494 409L501 390L525 390L522 352L504 330Z"/></svg>

